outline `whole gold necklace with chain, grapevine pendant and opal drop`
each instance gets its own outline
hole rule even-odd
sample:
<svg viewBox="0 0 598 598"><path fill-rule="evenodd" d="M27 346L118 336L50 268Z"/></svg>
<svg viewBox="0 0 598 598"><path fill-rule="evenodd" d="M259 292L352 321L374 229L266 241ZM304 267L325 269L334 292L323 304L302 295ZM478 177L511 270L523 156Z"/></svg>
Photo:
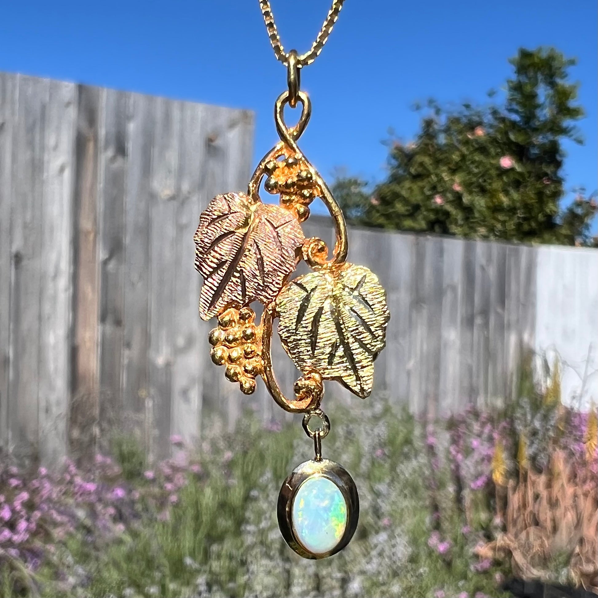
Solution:
<svg viewBox="0 0 598 598"><path fill-rule="evenodd" d="M277 516L287 544L307 559L322 559L344 548L355 533L359 496L355 482L338 463L322 458L330 429L322 411L324 380L337 380L356 395L370 395L374 359L385 346L389 311L375 274L346 261L343 213L318 171L297 145L310 118L309 97L300 89L300 71L322 51L344 0L333 0L310 50L285 53L269 0L260 0L274 55L287 69L288 90L276 100L274 119L280 141L255 169L248 192L216 196L200 216L194 236L195 265L204 282L200 316L218 318L209 334L210 356L225 377L251 394L261 376L274 401L303 413L312 438L313 459L298 465L280 489ZM295 126L287 127L286 105L301 105ZM279 205L263 203L260 185L279 195ZM334 221L332 256L322 239L306 239L301 222L319 197ZM300 260L312 269L290 279ZM250 304L263 304L260 321ZM301 372L294 398L274 376L271 337L274 321L282 345Z"/></svg>

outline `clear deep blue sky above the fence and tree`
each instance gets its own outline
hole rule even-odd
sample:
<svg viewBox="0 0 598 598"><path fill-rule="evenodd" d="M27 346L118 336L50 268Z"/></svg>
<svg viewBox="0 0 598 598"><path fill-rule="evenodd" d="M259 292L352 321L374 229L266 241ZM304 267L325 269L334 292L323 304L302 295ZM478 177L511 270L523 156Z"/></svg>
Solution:
<svg viewBox="0 0 598 598"><path fill-rule="evenodd" d="M257 0L4 2L0 70L255 111L254 160L276 142L272 111L286 87ZM273 0L286 48L309 47L329 0ZM408 140L410 106L484 101L525 46L577 57L573 79L585 145L568 145L569 187L597 185L595 0L347 0L328 44L303 69L313 102L300 146L325 178L345 167L368 181L385 174L389 127ZM289 115L289 120L291 116Z"/></svg>

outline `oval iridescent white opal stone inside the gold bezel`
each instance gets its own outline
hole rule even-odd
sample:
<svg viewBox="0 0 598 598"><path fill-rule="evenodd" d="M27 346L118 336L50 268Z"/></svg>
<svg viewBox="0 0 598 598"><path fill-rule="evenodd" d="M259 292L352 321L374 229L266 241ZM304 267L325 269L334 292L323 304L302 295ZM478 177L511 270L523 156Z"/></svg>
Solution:
<svg viewBox="0 0 598 598"><path fill-rule="evenodd" d="M292 505L295 536L306 550L324 554L343 537L347 505L338 486L322 475L301 484Z"/></svg>

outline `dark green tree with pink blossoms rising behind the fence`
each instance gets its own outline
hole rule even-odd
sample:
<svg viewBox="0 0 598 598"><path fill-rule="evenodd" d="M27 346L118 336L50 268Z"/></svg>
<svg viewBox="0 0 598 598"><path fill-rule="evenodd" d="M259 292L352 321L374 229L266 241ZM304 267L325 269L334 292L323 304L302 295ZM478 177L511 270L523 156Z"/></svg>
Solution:
<svg viewBox="0 0 598 598"><path fill-rule="evenodd" d="M591 242L596 200L562 207L565 139L581 144L575 60L521 48L503 103L445 109L429 100L413 143L393 143L388 179L367 193L357 178L332 189L349 221L374 227L519 242Z"/></svg>

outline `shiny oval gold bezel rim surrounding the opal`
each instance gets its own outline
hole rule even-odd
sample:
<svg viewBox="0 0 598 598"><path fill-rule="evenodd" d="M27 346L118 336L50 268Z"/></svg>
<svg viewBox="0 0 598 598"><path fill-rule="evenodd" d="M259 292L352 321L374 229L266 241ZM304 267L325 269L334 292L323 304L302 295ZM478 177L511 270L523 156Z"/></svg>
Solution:
<svg viewBox="0 0 598 598"><path fill-rule="evenodd" d="M305 481L314 477L324 477L334 483L343 495L347 507L347 522L343 536L341 536L341 539L334 548L325 553L313 553L304 547L297 537L292 520L293 503L298 490ZM350 539L357 529L359 521L359 495L357 487L353 478L343 466L329 459L322 459L320 461L311 459L295 467L282 484L278 495L277 515L282 537L295 553L305 559L325 559L343 550L349 544Z"/></svg>

